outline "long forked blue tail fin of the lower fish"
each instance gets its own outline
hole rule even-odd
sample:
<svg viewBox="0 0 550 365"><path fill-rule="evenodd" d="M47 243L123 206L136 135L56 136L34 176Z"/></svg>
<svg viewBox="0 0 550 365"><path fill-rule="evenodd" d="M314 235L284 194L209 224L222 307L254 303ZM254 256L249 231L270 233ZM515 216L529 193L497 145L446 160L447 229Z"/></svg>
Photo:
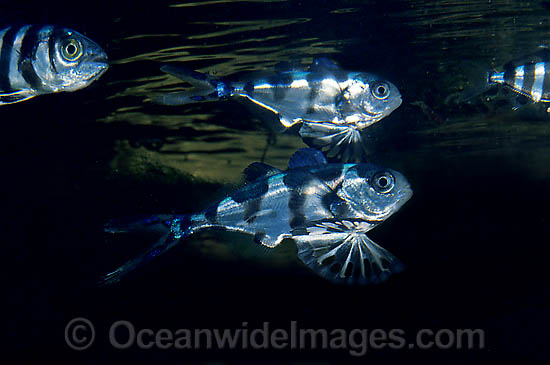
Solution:
<svg viewBox="0 0 550 365"><path fill-rule="evenodd" d="M103 276L100 285L114 284L142 264L174 247L181 238L191 234L189 216L151 216L133 221L111 221L105 225L105 232L120 233L131 231L153 231L161 233L161 238L145 253L129 260L118 269Z"/></svg>

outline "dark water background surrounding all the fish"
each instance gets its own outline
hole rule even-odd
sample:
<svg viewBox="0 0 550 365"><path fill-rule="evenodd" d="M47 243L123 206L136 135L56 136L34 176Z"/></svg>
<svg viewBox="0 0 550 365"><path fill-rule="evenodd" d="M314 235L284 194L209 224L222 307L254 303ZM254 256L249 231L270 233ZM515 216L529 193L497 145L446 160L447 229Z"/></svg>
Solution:
<svg viewBox="0 0 550 365"><path fill-rule="evenodd" d="M92 87L2 107L6 349L41 361L424 361L548 358L550 124L545 107L491 93L456 105L474 61L498 68L550 43L537 1L163 0L3 5L0 21L62 24L113 61ZM259 161L284 168L303 146L273 136L239 104L163 107L180 87L165 62L220 76L328 56L394 82L403 105L369 128L369 158L402 171L415 195L370 236L407 270L383 285L331 285L285 243L273 253L223 232L197 235L109 288L97 278L152 237L110 237L112 217L191 213ZM466 66L465 66L466 65ZM466 68L466 72L464 72ZM71 350L66 324L96 327ZM136 328L479 328L478 350L113 349ZM10 351L10 353L12 352Z"/></svg>

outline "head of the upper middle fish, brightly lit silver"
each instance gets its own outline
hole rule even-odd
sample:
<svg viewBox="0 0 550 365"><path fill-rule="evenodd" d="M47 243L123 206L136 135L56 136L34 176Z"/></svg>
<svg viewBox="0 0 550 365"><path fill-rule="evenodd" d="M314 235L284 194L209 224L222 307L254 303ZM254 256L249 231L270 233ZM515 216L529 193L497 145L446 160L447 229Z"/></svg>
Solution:
<svg viewBox="0 0 550 365"><path fill-rule="evenodd" d="M363 72L351 74L349 80L344 98L360 111L364 126L387 117L401 105L399 89L389 81Z"/></svg>

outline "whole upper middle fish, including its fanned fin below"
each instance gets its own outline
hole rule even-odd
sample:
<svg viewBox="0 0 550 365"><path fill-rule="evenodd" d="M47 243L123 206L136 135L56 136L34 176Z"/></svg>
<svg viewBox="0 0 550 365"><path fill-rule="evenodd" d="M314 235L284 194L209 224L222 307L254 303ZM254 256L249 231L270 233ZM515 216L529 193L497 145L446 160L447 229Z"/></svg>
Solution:
<svg viewBox="0 0 550 365"><path fill-rule="evenodd" d="M263 77L248 76L249 81L214 78L173 64L161 70L193 88L157 97L157 103L243 100L275 115L283 130L302 123L298 133L306 144L343 162L352 158L342 159L342 154L364 152L357 148L363 141L361 131L402 103L399 89L391 82L371 73L343 70L327 58L316 58L306 70L279 66Z"/></svg>

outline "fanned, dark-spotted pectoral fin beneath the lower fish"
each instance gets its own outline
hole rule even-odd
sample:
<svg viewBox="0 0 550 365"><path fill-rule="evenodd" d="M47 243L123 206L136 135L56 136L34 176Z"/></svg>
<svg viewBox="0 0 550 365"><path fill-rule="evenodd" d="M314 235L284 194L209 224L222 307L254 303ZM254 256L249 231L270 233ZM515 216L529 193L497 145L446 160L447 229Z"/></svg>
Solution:
<svg viewBox="0 0 550 365"><path fill-rule="evenodd" d="M375 284L403 270L403 264L364 232L338 232L336 224L308 228L294 236L298 257L317 274L339 284ZM333 229L331 229L331 227Z"/></svg>

